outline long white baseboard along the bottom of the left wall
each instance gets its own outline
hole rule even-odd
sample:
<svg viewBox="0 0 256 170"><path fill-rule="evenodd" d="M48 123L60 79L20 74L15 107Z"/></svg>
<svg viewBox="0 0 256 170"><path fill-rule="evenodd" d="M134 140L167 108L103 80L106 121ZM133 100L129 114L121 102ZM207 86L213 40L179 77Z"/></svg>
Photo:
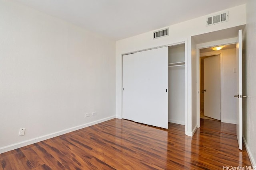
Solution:
<svg viewBox="0 0 256 170"><path fill-rule="evenodd" d="M62 131L54 132L54 133L50 133L48 135L36 137L36 138L29 139L29 140L26 140L26 141L22 141L22 142L19 142L19 143L14 143L12 145L7 145L5 147L1 147L0 148L0 154L4 153L4 152L8 152L10 150L14 150L14 149L18 149L18 148L21 148L21 147L25 147L27 145L31 145L33 143L44 141L46 139L57 137L57 136L65 134L65 133L76 131L78 129L82 129L82 128L89 127L89 126L92 126L92 125L96 125L98 123L102 123L104 121L108 121L108 120L111 120L111 119L114 119L114 118L116 118L116 116L106 117L104 119L100 119L100 120L97 120L97 121L85 123L83 125L79 125L79 126L76 126L76 127L71 127L71 128L68 128L68 129L65 129L65 130L62 130Z"/></svg>

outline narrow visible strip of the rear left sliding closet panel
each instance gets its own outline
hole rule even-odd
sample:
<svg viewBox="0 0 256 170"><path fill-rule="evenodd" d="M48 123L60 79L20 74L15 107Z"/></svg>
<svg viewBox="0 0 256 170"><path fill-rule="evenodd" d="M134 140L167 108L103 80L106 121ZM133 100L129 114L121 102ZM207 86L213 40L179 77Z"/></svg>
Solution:
<svg viewBox="0 0 256 170"><path fill-rule="evenodd" d="M134 54L123 55L122 118L134 120Z"/></svg>

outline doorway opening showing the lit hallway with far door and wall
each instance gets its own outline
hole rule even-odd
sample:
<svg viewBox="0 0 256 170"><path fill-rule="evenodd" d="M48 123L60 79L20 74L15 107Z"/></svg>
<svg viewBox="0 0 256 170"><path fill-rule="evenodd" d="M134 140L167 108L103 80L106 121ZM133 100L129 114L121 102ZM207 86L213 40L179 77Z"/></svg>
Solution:
<svg viewBox="0 0 256 170"><path fill-rule="evenodd" d="M200 49L200 118L236 123L236 45Z"/></svg>

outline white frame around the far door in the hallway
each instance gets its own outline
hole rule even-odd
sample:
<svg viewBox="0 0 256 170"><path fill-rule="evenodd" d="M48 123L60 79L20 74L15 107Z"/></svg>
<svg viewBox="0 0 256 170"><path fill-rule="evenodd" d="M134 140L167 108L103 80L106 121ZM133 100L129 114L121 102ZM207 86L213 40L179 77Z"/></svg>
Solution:
<svg viewBox="0 0 256 170"><path fill-rule="evenodd" d="M200 55L200 54L199 54ZM200 57L212 57L214 55L220 55L220 121L223 120L223 58L222 53L219 51L219 53L216 53L212 51L212 54L209 55L200 55ZM200 61L199 61L200 64ZM200 65L199 65L199 100L200 100ZM199 104L199 121L200 121L200 104Z"/></svg>

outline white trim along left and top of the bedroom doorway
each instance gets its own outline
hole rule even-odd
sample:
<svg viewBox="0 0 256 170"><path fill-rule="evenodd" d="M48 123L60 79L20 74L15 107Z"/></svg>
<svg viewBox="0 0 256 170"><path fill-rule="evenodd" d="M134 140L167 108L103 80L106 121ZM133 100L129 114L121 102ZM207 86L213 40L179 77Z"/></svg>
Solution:
<svg viewBox="0 0 256 170"><path fill-rule="evenodd" d="M197 80L200 80L200 63L199 63L199 59L200 59L200 49L202 48L208 48L208 47L213 47L213 46L219 46L219 45L228 45L228 44L234 44L236 43L236 37L234 38L230 38L230 39L222 39L222 40L218 40L218 41L212 41L212 42L208 42L208 43L202 43L202 44L197 44L196 45L196 78ZM222 71L223 74L223 71ZM222 86L221 88L223 89L223 80L222 81ZM200 81L197 82L196 85L196 89L198 92L200 92ZM221 89L221 92L222 92ZM221 94L221 99L223 102L223 92ZM223 106L223 104L221 103L221 107ZM197 127L200 127L200 93L197 93L196 95L196 109L197 109ZM221 108L221 113L223 113L223 108ZM222 114L221 114L222 115ZM221 117L222 119L223 117Z"/></svg>

